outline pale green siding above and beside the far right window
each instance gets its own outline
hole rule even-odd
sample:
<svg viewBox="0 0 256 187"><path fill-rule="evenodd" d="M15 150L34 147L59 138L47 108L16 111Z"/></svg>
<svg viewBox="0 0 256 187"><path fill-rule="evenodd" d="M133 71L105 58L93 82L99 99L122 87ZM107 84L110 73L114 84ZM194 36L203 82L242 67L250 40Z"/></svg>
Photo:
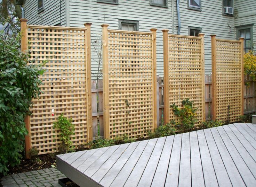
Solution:
<svg viewBox="0 0 256 187"><path fill-rule="evenodd" d="M235 0L234 7L235 27L254 24L253 47L256 50L256 1Z"/></svg>

